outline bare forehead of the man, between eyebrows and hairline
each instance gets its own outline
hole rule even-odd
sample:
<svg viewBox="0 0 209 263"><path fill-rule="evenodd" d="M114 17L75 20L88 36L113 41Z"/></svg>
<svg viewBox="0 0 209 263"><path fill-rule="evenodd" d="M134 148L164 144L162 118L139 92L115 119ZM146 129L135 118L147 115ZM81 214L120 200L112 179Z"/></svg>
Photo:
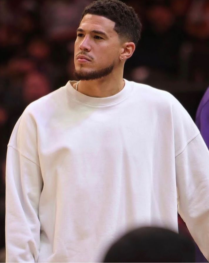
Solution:
<svg viewBox="0 0 209 263"><path fill-rule="evenodd" d="M82 28L83 30L101 30L105 31L108 35L117 35L114 26L115 22L104 16L86 14L81 20L79 28Z"/></svg>

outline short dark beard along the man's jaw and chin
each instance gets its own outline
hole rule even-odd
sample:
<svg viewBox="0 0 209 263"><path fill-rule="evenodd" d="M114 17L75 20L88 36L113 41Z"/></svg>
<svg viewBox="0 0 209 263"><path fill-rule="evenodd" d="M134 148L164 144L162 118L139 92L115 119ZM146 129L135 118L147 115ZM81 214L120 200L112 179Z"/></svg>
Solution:
<svg viewBox="0 0 209 263"><path fill-rule="evenodd" d="M102 77L109 75L112 72L113 68L114 68L114 63L110 65L109 67L105 67L103 69L94 70L90 72L82 71L82 69L79 71L75 70L74 75L79 80L101 79Z"/></svg>

